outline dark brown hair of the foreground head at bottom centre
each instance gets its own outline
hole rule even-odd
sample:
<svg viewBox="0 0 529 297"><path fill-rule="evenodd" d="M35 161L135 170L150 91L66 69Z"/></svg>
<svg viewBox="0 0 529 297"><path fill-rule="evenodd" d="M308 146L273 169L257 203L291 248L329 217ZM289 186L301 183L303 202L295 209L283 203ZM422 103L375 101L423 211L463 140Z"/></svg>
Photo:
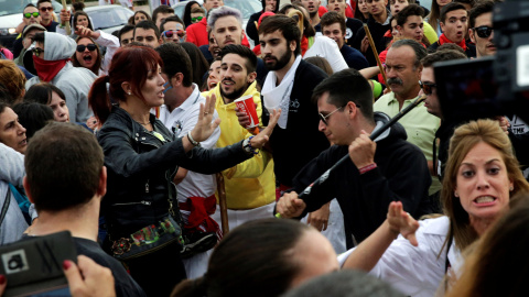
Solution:
<svg viewBox="0 0 529 297"><path fill-rule="evenodd" d="M294 248L311 230L294 220L246 222L213 251L203 278L180 283L171 296L279 296L300 270Z"/></svg>

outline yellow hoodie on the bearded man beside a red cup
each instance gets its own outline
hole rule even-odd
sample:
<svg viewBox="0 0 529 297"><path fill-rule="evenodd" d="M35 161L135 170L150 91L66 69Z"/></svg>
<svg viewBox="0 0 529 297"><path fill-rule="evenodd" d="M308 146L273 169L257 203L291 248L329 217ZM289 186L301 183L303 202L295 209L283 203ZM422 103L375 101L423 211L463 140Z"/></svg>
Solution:
<svg viewBox="0 0 529 297"><path fill-rule="evenodd" d="M220 138L217 147L225 147L251 134L240 127L235 114L235 103L225 105L220 96L220 84L213 90L203 92L203 96L215 94L217 98L216 110L220 122ZM241 96L252 95L257 105L257 114L261 121L261 97L256 89L256 82L250 85ZM276 176L273 174L273 160L270 153L260 151L259 154L235 167L223 172L226 189L226 200L229 209L253 209L269 205L276 200ZM218 194L217 194L218 201Z"/></svg>

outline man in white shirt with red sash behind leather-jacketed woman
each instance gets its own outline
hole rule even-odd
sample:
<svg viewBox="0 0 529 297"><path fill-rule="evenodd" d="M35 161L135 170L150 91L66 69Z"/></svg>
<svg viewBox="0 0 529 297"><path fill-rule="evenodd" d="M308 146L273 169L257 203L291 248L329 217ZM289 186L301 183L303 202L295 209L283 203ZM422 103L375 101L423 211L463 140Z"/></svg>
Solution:
<svg viewBox="0 0 529 297"><path fill-rule="evenodd" d="M158 118L176 136L193 130L201 103L206 99L192 82L193 68L185 50L175 43L155 48L163 61L162 76L165 79L165 103L160 107ZM215 112L214 119L218 118ZM217 128L209 139L202 142L205 148L213 148L220 135ZM179 193L179 207L184 221L184 250L182 257L187 277L202 276L207 268L207 250L220 238L218 224L209 217L215 212L215 176L190 172L180 167L174 179ZM218 234L218 235L217 235Z"/></svg>

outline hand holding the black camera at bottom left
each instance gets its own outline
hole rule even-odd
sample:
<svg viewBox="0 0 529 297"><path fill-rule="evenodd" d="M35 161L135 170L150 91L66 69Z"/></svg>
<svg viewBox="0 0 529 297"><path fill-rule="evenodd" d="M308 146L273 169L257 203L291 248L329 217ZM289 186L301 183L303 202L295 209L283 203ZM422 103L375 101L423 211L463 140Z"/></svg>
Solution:
<svg viewBox="0 0 529 297"><path fill-rule="evenodd" d="M84 255L77 256L77 262L78 265L68 260L63 263L64 275L73 297L116 296L114 276L109 268Z"/></svg>

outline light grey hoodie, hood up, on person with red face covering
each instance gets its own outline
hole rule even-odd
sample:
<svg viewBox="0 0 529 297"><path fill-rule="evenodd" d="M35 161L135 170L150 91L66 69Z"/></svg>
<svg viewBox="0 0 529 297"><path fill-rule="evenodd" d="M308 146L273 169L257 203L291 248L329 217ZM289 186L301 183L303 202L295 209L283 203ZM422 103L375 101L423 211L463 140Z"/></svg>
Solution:
<svg viewBox="0 0 529 297"><path fill-rule="evenodd" d="M25 52L25 55L32 55L30 51L34 45L30 46ZM68 36L55 32L44 32L44 59L45 61L60 61L71 58L75 54L77 44ZM24 57L24 66L28 69L33 68L26 66L29 59ZM69 110L71 122L86 122L88 118L93 116L91 110L88 108L88 92L91 84L96 79L96 75L87 68L74 67L72 62L67 62L66 65L58 72L58 74L50 81L50 84L60 88L66 97L66 106ZM35 76L25 82L25 89L31 86L41 82L41 79Z"/></svg>

